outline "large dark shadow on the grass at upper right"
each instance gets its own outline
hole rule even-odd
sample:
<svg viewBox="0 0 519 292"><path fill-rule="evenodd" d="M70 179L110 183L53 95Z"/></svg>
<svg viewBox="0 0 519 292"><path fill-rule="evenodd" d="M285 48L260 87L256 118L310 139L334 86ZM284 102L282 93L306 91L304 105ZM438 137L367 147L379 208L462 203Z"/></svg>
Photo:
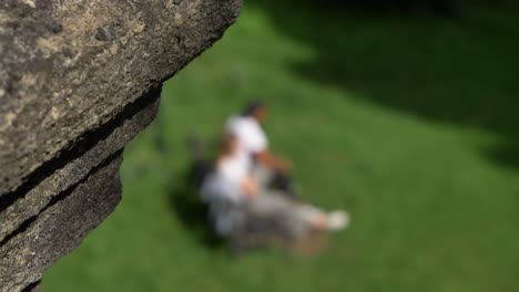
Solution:
<svg viewBox="0 0 519 292"><path fill-rule="evenodd" d="M519 169L512 158L519 153L517 3L457 6L456 18L445 18L335 2L248 3L314 49L313 60L292 64L298 75L423 118L500 135L501 147L481 154Z"/></svg>

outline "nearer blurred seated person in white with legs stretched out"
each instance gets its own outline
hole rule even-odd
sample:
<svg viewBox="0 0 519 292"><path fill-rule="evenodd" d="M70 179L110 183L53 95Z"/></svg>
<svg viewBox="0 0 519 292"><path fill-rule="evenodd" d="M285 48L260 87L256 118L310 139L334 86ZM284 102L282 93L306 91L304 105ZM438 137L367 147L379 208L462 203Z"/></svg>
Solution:
<svg viewBox="0 0 519 292"><path fill-rule="evenodd" d="M221 236L230 236L247 218L274 221L276 230L291 239L304 238L313 230L340 230L348 225L345 211L326 213L258 184L251 163L238 139L227 134L215 169L202 186L203 199L210 204L211 218Z"/></svg>

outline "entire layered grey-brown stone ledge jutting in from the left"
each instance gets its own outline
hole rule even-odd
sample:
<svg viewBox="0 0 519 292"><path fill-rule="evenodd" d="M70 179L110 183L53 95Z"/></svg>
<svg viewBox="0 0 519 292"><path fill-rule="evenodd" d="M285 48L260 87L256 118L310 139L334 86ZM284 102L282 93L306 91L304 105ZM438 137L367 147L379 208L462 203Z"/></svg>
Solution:
<svg viewBox="0 0 519 292"><path fill-rule="evenodd" d="M240 0L0 1L0 291L116 206L124 145L161 83L220 39Z"/></svg>

